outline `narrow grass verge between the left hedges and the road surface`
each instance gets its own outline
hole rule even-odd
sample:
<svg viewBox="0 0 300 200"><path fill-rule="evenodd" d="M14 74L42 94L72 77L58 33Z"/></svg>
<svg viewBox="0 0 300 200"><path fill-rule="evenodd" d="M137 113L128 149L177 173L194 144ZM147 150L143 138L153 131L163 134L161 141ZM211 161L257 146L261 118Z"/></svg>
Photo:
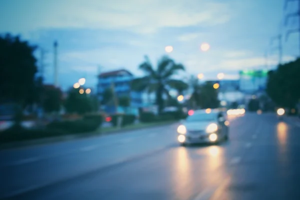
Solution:
<svg viewBox="0 0 300 200"><path fill-rule="evenodd" d="M137 123L137 124L132 124L132 125L128 125L125 127L121 127L121 128L103 127L103 128L97 129L96 131L85 132L85 133L76 133L76 134L69 133L69 134L63 134L60 136L49 136L49 137L42 137L42 138L23 139L23 140L5 141L5 142L0 141L0 149L42 145L42 144L47 144L47 143L68 141L68 140L87 138L87 137L92 137L92 136L101 136L101 135L107 135L107 134L113 134L113 133L122 133L122 132L131 131L131 130L150 128L150 127L156 127L156 126L161 126L161 125L168 125L168 124L172 124L175 122L177 122L177 120L151 122L151 123Z"/></svg>

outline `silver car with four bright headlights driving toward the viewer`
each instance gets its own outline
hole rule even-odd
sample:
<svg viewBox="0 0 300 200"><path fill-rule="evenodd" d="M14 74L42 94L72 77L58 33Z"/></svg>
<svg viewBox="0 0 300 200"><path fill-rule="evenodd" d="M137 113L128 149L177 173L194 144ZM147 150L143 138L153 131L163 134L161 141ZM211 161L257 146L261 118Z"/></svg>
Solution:
<svg viewBox="0 0 300 200"><path fill-rule="evenodd" d="M180 144L215 143L229 138L229 121L225 112L218 109L194 110L177 127Z"/></svg>

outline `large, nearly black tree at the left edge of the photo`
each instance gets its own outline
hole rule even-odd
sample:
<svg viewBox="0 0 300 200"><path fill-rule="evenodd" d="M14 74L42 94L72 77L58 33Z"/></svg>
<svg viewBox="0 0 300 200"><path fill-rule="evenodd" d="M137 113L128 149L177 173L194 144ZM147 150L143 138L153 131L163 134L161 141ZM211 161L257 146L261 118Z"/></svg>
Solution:
<svg viewBox="0 0 300 200"><path fill-rule="evenodd" d="M32 101L37 71L34 50L35 46L21 41L19 36L0 36L1 100L14 101L21 106Z"/></svg>

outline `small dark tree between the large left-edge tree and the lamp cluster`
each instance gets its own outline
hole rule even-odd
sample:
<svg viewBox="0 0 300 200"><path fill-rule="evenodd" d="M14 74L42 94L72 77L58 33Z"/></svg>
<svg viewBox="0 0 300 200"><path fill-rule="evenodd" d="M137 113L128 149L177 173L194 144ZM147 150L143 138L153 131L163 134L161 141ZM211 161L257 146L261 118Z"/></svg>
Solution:
<svg viewBox="0 0 300 200"><path fill-rule="evenodd" d="M52 85L44 85L42 107L45 112L57 112L62 103L60 88Z"/></svg>

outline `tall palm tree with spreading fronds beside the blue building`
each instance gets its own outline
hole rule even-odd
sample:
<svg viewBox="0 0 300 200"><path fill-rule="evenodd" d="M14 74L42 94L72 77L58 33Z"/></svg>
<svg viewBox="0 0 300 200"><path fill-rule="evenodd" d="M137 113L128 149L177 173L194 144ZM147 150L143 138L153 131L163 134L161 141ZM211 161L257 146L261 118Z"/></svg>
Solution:
<svg viewBox="0 0 300 200"><path fill-rule="evenodd" d="M174 79L172 76L180 70L185 70L184 66L175 63L174 60L167 56L162 56L158 61L157 68L154 69L149 58L145 56L138 69L142 70L145 75L132 80L131 87L133 90L155 92L156 104L158 105L158 113L163 109L163 94L169 96L169 89L181 89L187 84L182 80Z"/></svg>

